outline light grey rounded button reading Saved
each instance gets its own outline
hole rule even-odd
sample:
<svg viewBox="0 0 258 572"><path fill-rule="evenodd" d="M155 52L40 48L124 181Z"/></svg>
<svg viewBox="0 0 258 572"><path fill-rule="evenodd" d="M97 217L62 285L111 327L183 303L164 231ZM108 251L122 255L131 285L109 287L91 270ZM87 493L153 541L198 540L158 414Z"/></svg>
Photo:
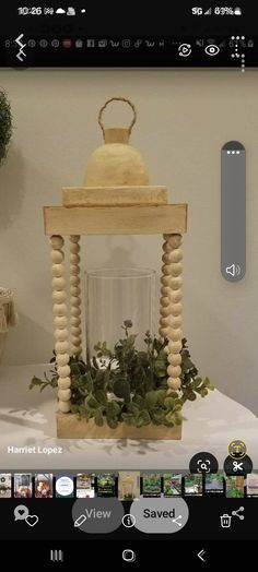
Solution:
<svg viewBox="0 0 258 572"><path fill-rule="evenodd" d="M178 533L189 517L184 499L140 499L132 502L130 513L136 517L136 528L148 534Z"/></svg>

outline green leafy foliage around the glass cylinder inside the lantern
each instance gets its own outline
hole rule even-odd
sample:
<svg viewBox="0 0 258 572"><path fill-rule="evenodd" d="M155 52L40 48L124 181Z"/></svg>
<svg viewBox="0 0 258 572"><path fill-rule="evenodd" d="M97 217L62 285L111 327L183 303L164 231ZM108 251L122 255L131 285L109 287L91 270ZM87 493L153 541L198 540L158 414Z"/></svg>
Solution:
<svg viewBox="0 0 258 572"><path fill-rule="evenodd" d="M97 426L104 420L115 429L119 422L133 427L144 425L181 425L181 409L187 400L194 401L197 395L204 397L214 386L209 379L198 377L198 370L191 361L187 341L183 339L181 348L181 388L178 392L167 394L167 339L161 342L152 338L146 332L145 350L136 348L136 334L130 334L130 320L122 325L125 336L114 349L106 343L95 346L96 356L91 364L78 357L70 358L72 412L80 418L91 419ZM105 360L106 367L103 368ZM45 374L44 380L34 377L30 389L38 386L57 388L56 355L51 359L51 379Z"/></svg>

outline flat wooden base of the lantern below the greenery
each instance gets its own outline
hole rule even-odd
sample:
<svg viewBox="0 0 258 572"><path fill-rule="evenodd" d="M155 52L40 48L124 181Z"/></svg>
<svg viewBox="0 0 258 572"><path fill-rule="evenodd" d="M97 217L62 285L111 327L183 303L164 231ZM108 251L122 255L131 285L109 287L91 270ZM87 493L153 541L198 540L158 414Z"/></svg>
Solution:
<svg viewBox="0 0 258 572"><path fill-rule="evenodd" d="M161 425L146 425L138 429L126 424L119 424L117 429L110 429L105 422L97 427L94 419L87 422L78 419L72 413L57 413L57 437L59 439L149 439L149 440L179 440L181 426L165 427Z"/></svg>

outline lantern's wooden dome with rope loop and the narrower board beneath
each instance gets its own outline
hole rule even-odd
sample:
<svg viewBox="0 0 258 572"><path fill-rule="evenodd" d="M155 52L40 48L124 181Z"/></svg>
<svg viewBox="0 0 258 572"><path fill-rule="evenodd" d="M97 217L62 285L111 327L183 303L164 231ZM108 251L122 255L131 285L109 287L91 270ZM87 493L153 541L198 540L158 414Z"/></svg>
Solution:
<svg viewBox="0 0 258 572"><path fill-rule="evenodd" d="M132 109L128 128L105 128L103 114L112 102L124 102ZM104 144L89 157L81 187L62 189L63 206L160 205L167 204L164 186L153 186L141 153L130 145L132 127L137 120L134 105L125 97L112 97L99 110Z"/></svg>

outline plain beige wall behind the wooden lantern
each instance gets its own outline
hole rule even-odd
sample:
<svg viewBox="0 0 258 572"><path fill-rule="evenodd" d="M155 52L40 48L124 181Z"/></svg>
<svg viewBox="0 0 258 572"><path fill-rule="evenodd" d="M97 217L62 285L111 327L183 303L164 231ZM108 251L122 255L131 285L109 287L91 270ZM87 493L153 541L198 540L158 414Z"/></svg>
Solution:
<svg viewBox="0 0 258 572"><path fill-rule="evenodd" d="M258 412L258 74L248 71L1 70L14 135L0 169L0 285L12 287L20 325L5 362L47 361L52 348L48 241L42 206L82 180L99 144L96 114L112 95L130 97L139 120L131 139L153 183L189 203L185 240L184 334L201 374ZM220 148L247 150L247 274L220 273ZM159 267L159 237L89 238L83 265Z"/></svg>

